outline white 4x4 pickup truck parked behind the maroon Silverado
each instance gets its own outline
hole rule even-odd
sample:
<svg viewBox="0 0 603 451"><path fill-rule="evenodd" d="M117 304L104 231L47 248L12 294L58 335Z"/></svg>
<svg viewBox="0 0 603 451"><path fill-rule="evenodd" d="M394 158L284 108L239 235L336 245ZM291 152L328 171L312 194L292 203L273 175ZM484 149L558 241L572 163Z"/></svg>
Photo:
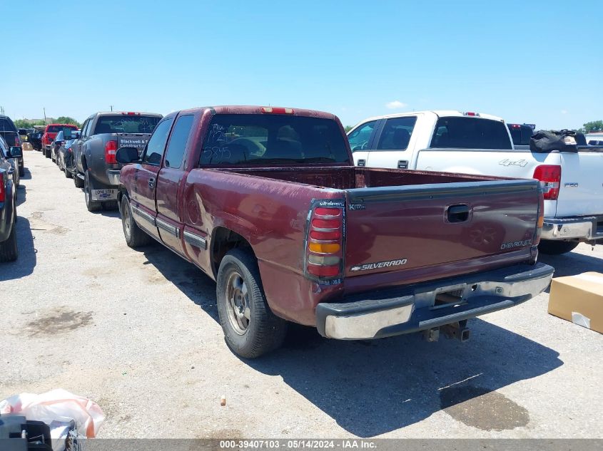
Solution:
<svg viewBox="0 0 603 451"><path fill-rule="evenodd" d="M358 166L538 179L544 185L540 251L603 244L603 147L516 149L502 118L450 110L368 118L348 139Z"/></svg>

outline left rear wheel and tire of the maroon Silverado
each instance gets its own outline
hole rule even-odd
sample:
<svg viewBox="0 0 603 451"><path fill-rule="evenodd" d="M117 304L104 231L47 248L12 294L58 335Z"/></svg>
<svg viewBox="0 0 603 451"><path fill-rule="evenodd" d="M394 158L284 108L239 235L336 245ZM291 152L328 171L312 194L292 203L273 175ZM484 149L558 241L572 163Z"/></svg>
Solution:
<svg viewBox="0 0 603 451"><path fill-rule="evenodd" d="M216 296L224 338L234 353L256 358L280 348L287 321L270 310L253 254L233 249L224 256L218 269Z"/></svg>

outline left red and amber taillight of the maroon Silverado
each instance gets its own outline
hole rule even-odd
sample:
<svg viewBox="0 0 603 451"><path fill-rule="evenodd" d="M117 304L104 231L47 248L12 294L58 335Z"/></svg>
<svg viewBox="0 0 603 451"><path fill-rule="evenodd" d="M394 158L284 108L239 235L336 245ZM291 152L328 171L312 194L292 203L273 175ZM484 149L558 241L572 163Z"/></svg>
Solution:
<svg viewBox="0 0 603 451"><path fill-rule="evenodd" d="M317 207L310 216L306 270L319 278L341 276L343 268L343 209Z"/></svg>

